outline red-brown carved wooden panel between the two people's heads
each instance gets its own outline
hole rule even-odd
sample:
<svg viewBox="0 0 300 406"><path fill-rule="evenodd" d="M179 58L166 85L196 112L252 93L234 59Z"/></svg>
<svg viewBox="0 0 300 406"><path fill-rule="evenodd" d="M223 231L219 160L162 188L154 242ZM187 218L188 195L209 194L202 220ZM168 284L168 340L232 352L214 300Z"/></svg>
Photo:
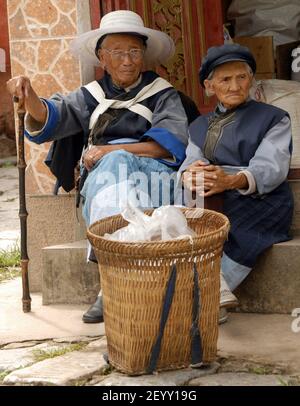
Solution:
<svg viewBox="0 0 300 406"><path fill-rule="evenodd" d="M158 73L192 97L202 112L212 110L215 100L205 96L198 72L207 49L223 43L222 0L130 0L130 9L175 42L174 57Z"/></svg>

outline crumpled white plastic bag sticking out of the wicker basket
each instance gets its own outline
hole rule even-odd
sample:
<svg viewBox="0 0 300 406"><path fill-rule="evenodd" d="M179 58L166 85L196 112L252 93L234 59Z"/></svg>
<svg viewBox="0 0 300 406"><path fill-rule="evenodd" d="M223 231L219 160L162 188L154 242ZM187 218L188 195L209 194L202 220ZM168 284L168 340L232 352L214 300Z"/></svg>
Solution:
<svg viewBox="0 0 300 406"><path fill-rule="evenodd" d="M182 211L176 206L162 206L147 216L140 209L128 205L122 216L129 222L104 238L117 241L157 241L175 238L191 238L196 233L189 228Z"/></svg>

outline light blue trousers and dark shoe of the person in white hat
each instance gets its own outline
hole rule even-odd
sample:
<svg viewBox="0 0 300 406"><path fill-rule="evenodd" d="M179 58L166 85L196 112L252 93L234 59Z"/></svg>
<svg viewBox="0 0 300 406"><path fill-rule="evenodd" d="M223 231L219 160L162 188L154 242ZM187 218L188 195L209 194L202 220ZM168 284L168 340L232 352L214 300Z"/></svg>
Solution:
<svg viewBox="0 0 300 406"><path fill-rule="evenodd" d="M151 175L159 173L173 174L171 168L162 163L136 157L120 150L107 154L89 174L81 192L83 200L83 217L87 226L102 218L119 214L130 201L143 209L172 204L173 184L170 184L170 199L163 201L163 181L151 182ZM152 202L153 195L158 194ZM151 196L151 197L150 197ZM90 253L88 254L89 257ZM101 314L99 313L101 311ZM83 315L86 323L96 323L103 319L101 291L89 310Z"/></svg>

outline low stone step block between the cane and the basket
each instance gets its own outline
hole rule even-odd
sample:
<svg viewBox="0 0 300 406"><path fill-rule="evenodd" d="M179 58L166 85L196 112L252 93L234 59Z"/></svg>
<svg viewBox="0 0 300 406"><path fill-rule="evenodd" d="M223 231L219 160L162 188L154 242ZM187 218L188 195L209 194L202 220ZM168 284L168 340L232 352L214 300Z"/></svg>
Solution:
<svg viewBox="0 0 300 406"><path fill-rule="evenodd" d="M99 290L98 266L86 261L87 241L42 249L43 304L92 304Z"/></svg>

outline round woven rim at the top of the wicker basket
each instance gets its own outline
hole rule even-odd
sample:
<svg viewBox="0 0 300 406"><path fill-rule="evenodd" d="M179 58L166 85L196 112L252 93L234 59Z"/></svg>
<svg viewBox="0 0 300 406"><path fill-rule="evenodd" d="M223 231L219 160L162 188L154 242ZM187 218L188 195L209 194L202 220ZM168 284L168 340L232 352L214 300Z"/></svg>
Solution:
<svg viewBox="0 0 300 406"><path fill-rule="evenodd" d="M191 211L199 210L199 211L201 211L202 214L204 214L204 213L213 214L214 216L217 216L217 217L222 218L222 219L224 220L224 224L223 224L221 227L219 227L218 230L210 231L210 232L207 232L207 233L203 233L203 234L201 234L201 236L191 237L192 240L195 241L195 242L200 241L200 240L203 240L203 238L209 238L210 236L213 236L213 235L215 235L216 233L220 233L220 232L222 232L222 231L224 231L224 230L226 230L226 229L227 229L227 232L228 232L228 229L229 229L229 226L230 226L230 222L229 222L228 217L226 217L226 216L225 216L224 214L222 214L222 213L216 212L216 211L214 211L214 210L209 210L209 209L189 209L189 208L180 208L180 209L181 209L184 213L185 213L186 211L191 212ZM144 213L145 213L145 214L149 214L149 213L152 213L153 211L154 211L154 209L145 210ZM88 227L88 229L87 229L87 236L88 236L88 238L89 238L89 239L94 239L94 238L96 238L96 239L98 239L98 240L100 239L100 240L102 240L102 241L107 241L107 242L111 243L112 247L113 247L114 244L115 244L116 247L117 247L117 246L122 246L123 248L132 247L133 245L137 245L137 244L138 244L141 249L142 249L143 247L145 247L145 248L148 247L148 248L149 248L149 246L151 246L151 245L154 246L154 245L163 244L163 243L164 243L164 244L168 244L168 243L170 244L170 243L174 243L175 241L178 241L178 242L181 242L181 243L183 243L183 242L188 242L188 243L189 243L189 241L190 241L190 238L188 238L188 237L185 237L185 238L173 238L173 239L169 239L169 240L155 240L155 241L144 241L144 240L118 241L118 240L111 240L111 239L108 239L108 238L104 238L103 236L100 236L100 235L98 235L98 234L94 234L94 233L91 231L94 227L97 226L97 224L100 224L100 223L102 223L102 222L104 222L104 221L110 221L111 219L113 219L113 218L115 218L115 217L117 217L117 216L121 216L121 217L122 217L122 214L116 214L116 215L114 215L114 216L105 217L104 219L98 220L98 221L96 221L95 223L91 224L91 225ZM199 216L199 218L200 218L200 217L201 217L201 216ZM196 217L194 217L194 218L196 218Z"/></svg>

